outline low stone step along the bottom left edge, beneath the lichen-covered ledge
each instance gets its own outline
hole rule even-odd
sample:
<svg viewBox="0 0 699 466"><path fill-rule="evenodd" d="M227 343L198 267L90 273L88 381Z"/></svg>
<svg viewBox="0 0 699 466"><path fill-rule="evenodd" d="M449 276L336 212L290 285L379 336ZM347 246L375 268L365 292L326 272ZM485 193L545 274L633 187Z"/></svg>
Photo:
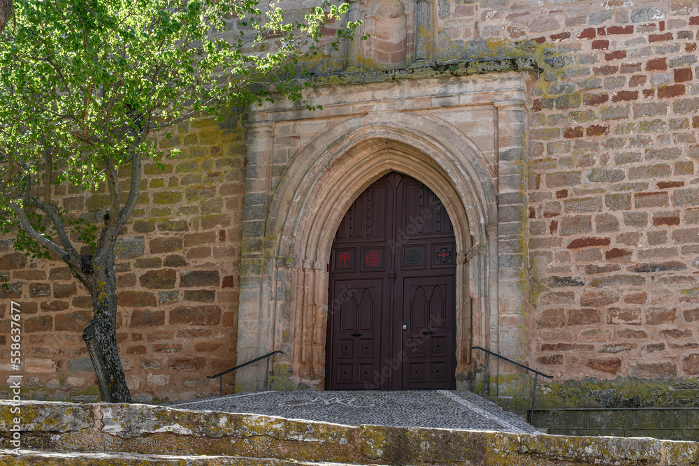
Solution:
<svg viewBox="0 0 699 466"><path fill-rule="evenodd" d="M3 466L349 466L347 463L303 463L275 458L242 456L140 455L137 453L54 452L41 450L0 450Z"/></svg>

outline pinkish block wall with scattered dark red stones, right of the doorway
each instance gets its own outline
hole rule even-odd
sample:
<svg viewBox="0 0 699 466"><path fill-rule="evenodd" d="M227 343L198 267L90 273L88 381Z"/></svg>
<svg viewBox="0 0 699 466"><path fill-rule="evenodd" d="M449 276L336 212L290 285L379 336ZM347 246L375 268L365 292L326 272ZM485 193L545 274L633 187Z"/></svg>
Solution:
<svg viewBox="0 0 699 466"><path fill-rule="evenodd" d="M440 0L435 11L435 57L512 46L541 68L528 362L559 380L699 374L697 3Z"/></svg>

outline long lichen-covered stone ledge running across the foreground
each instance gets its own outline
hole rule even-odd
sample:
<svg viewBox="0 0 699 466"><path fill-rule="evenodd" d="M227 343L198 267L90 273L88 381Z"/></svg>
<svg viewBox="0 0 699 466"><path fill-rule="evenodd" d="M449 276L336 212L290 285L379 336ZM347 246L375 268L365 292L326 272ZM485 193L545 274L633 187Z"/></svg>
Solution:
<svg viewBox="0 0 699 466"><path fill-rule="evenodd" d="M0 402L0 437L4 442L10 436L10 422L14 416L10 414L11 407L11 402ZM699 445L694 442L649 438L563 437L380 425L350 427L150 405L20 402L19 407L24 428L27 428L22 432L22 448L43 451L210 455L250 457L259 461L292 458L301 462L335 461L359 465L670 466L696 464L699 458ZM31 463L34 461L31 455L27 453L22 457L26 457L24 463L15 460L10 464L40 464ZM273 460L259 464L285 464ZM57 464L85 464L67 461ZM247 464L256 463L251 460Z"/></svg>

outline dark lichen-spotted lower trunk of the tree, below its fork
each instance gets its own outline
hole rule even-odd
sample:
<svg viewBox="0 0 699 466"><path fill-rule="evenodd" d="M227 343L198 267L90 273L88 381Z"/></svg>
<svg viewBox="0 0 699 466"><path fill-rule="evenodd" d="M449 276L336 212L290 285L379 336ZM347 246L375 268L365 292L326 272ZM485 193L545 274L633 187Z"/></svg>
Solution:
<svg viewBox="0 0 699 466"><path fill-rule="evenodd" d="M131 393L117 348L117 282L114 247L99 248L94 256L82 256L82 272L92 296L94 316L82 333L87 344L103 402L128 403Z"/></svg>

